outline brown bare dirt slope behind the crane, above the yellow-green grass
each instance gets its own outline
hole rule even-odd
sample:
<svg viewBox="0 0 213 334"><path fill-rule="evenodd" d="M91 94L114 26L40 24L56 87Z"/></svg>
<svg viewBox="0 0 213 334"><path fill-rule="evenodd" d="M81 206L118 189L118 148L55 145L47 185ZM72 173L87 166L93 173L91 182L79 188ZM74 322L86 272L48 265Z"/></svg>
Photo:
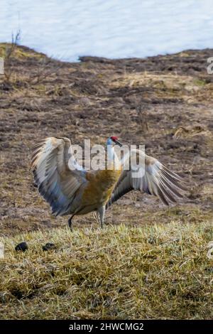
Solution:
<svg viewBox="0 0 213 334"><path fill-rule="evenodd" d="M0 57L10 45L0 44ZM62 63L18 46L0 75L0 233L65 226L33 186L31 148L46 136L73 144L145 144L188 182L186 198L165 208L149 195L130 193L107 211L107 222L202 222L213 218L213 50L187 50L147 59L83 57ZM75 217L74 227L94 224Z"/></svg>

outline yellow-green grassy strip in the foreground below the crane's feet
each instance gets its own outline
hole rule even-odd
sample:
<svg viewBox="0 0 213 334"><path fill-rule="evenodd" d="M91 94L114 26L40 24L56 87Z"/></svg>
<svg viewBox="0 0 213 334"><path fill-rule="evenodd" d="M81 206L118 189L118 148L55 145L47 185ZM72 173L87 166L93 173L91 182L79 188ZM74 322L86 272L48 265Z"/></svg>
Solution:
<svg viewBox="0 0 213 334"><path fill-rule="evenodd" d="M2 239L1 318L212 318L212 238L209 222L175 222L32 232L25 254Z"/></svg>

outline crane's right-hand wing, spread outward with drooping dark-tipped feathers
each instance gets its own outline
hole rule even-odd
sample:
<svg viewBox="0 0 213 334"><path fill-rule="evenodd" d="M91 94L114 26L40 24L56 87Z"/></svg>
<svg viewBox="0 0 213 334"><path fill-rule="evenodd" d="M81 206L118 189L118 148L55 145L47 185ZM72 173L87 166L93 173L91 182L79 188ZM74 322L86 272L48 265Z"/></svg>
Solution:
<svg viewBox="0 0 213 334"><path fill-rule="evenodd" d="M141 165L131 163L133 153L136 154L137 160L142 158ZM122 171L106 205L107 208L131 190L140 190L142 193L158 196L165 205L169 205L170 202L175 203L175 198L182 198L179 191L186 189L181 184L180 176L168 170L157 159L147 156L143 151L133 150L131 156L128 157L129 170Z"/></svg>

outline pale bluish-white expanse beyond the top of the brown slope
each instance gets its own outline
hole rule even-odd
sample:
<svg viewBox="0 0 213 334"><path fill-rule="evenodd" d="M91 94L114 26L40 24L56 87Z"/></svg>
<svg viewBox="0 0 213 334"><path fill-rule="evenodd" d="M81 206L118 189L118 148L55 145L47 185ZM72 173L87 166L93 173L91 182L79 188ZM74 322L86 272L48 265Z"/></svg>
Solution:
<svg viewBox="0 0 213 334"><path fill-rule="evenodd" d="M0 41L62 60L213 48L213 0L0 0Z"/></svg>

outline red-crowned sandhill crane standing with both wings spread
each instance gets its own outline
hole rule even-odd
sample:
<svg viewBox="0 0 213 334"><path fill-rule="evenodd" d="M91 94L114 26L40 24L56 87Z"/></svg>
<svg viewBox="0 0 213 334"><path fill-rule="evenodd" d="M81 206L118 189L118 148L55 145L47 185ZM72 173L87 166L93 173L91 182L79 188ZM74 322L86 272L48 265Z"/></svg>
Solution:
<svg viewBox="0 0 213 334"><path fill-rule="evenodd" d="M107 139L112 163L117 159L116 144L122 146L116 136ZM131 190L158 196L165 205L175 203L175 198L182 197L179 191L185 190L182 178L160 161L138 149L134 153L143 156L145 161L141 168L143 173L137 178L133 178L136 169L133 163L129 170L124 170L123 162L121 168L86 171L75 160L70 139L48 137L35 145L31 168L38 191L50 204L53 215L71 216L68 220L71 230L72 217L89 212L94 212L103 226L105 209Z"/></svg>

